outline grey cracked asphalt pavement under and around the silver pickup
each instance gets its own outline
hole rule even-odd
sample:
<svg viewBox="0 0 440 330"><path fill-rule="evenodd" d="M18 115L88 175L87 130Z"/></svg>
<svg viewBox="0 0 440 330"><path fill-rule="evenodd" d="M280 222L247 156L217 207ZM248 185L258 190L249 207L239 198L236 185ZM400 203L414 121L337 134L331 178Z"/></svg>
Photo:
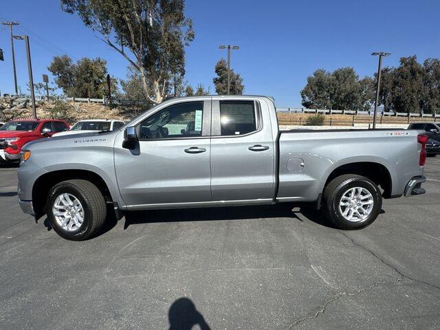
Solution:
<svg viewBox="0 0 440 330"><path fill-rule="evenodd" d="M440 157L358 231L287 206L137 212L83 242L0 168L1 329L439 329Z"/></svg>

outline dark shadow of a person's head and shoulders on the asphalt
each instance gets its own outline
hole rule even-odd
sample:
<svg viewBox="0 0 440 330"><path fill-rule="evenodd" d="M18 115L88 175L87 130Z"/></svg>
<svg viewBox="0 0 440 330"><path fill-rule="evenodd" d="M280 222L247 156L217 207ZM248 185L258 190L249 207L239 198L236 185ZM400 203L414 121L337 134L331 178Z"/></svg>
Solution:
<svg viewBox="0 0 440 330"><path fill-rule="evenodd" d="M179 298L168 311L168 320L170 330L191 330L198 325L201 330L210 330L208 323L195 308L192 300L188 298Z"/></svg>

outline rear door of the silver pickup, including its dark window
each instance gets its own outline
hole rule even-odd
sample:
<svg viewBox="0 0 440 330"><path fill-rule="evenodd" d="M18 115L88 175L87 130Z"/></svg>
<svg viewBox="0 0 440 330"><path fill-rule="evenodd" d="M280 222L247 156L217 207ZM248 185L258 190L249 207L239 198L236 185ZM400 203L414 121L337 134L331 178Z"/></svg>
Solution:
<svg viewBox="0 0 440 330"><path fill-rule="evenodd" d="M275 148L267 104L212 100L211 192L213 201L274 197Z"/></svg>

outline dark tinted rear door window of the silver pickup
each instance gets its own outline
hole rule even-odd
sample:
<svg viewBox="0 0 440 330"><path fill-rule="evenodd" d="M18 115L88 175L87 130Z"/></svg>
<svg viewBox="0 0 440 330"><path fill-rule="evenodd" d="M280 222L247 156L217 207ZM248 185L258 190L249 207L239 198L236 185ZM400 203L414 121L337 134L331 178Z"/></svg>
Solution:
<svg viewBox="0 0 440 330"><path fill-rule="evenodd" d="M220 101L221 135L256 131L254 101Z"/></svg>

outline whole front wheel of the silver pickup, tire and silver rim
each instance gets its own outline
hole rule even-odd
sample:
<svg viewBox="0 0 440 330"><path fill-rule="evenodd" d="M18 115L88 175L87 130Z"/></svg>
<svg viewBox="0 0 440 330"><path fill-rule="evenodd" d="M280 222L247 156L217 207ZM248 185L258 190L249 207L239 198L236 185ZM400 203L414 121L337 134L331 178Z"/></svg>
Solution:
<svg viewBox="0 0 440 330"><path fill-rule="evenodd" d="M62 181L50 190L47 217L56 233L65 239L89 238L102 228L106 216L104 197L90 181Z"/></svg>

